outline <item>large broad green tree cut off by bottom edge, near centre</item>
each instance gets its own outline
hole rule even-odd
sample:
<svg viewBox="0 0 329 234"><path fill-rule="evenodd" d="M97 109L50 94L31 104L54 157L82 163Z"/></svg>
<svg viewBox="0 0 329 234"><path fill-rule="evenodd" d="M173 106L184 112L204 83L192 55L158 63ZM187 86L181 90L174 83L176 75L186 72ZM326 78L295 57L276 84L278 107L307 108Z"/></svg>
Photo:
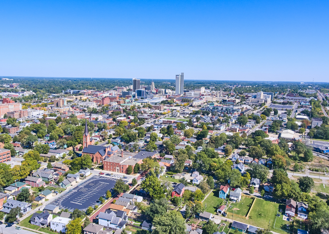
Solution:
<svg viewBox="0 0 329 234"><path fill-rule="evenodd" d="M185 233L185 219L179 211L172 210L162 216L154 217L154 234L182 234Z"/></svg>

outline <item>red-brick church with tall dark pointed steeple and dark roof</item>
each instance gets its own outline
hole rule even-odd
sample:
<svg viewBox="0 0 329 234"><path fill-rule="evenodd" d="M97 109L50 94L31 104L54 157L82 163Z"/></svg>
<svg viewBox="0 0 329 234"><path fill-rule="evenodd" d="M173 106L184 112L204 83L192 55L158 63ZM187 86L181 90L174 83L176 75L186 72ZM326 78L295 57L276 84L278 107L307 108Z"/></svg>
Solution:
<svg viewBox="0 0 329 234"><path fill-rule="evenodd" d="M91 119L91 113L90 113L89 119ZM82 147L83 147L82 155L85 155L85 154L90 155L91 161L93 163L103 163L104 160L113 156L114 153L116 153L119 150L119 148L117 146L116 147L114 146L112 148L112 145L109 145L109 146L93 145L92 141L90 141L87 118L86 118L86 123L85 123L85 132L83 134ZM111 148L112 148L112 151L111 151Z"/></svg>

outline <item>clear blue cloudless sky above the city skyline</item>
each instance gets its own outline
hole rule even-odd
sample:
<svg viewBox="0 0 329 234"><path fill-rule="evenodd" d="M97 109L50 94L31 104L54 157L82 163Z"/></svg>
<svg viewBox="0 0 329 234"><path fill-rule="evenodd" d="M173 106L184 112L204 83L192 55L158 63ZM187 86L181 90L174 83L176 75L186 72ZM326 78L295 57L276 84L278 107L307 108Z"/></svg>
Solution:
<svg viewBox="0 0 329 234"><path fill-rule="evenodd" d="M329 1L0 1L0 75L329 81Z"/></svg>

